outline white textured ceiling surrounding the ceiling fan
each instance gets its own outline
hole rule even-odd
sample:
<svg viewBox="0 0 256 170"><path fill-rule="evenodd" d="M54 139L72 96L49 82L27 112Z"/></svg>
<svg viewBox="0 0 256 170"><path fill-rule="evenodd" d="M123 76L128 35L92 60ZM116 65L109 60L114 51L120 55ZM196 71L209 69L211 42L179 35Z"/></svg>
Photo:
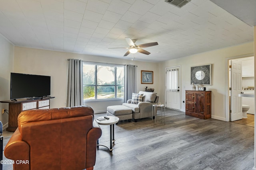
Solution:
<svg viewBox="0 0 256 170"><path fill-rule="evenodd" d="M253 27L210 0L0 0L0 33L14 45L162 62L253 41ZM125 37L150 55L123 57Z"/></svg>

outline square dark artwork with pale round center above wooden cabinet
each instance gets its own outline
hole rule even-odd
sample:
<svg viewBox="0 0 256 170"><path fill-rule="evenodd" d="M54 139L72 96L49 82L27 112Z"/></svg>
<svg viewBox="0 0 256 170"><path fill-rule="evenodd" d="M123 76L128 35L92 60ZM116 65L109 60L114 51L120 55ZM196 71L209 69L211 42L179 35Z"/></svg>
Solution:
<svg viewBox="0 0 256 170"><path fill-rule="evenodd" d="M212 85L212 64L191 67L191 82L195 85Z"/></svg>

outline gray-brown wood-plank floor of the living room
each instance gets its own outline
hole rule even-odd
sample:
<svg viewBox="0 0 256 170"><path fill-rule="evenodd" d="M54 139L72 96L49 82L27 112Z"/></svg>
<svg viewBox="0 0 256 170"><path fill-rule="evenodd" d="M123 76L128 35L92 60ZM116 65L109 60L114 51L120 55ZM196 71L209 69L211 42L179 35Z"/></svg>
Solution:
<svg viewBox="0 0 256 170"><path fill-rule="evenodd" d="M114 125L114 150L100 146L94 170L251 170L254 166L254 127L198 119L171 109L166 109L164 125L159 109L156 124L149 117ZM100 127L99 142L109 147L110 127Z"/></svg>

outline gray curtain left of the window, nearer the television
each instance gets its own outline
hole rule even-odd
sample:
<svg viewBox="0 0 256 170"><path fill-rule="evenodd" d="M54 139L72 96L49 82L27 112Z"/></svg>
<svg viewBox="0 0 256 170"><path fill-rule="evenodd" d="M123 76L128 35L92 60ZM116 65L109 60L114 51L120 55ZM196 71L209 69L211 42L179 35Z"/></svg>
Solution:
<svg viewBox="0 0 256 170"><path fill-rule="evenodd" d="M78 59L69 59L68 63L68 98L67 106L83 105L83 62Z"/></svg>

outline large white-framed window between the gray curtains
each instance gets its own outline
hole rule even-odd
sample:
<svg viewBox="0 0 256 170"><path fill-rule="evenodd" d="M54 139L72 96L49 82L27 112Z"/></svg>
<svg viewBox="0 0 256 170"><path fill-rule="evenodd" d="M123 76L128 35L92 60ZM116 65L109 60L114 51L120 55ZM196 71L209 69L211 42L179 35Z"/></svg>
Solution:
<svg viewBox="0 0 256 170"><path fill-rule="evenodd" d="M124 66L83 63L84 100L124 98Z"/></svg>

